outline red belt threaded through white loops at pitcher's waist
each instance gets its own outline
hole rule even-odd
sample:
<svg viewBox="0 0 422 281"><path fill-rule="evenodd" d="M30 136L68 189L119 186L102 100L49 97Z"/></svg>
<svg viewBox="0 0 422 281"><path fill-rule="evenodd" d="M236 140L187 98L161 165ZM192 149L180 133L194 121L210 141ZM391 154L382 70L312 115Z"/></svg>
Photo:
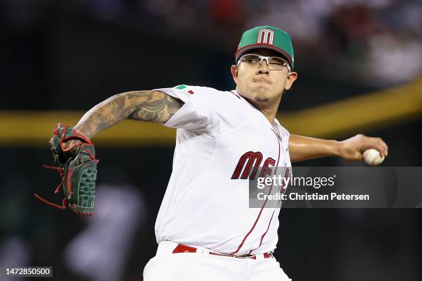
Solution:
<svg viewBox="0 0 422 281"><path fill-rule="evenodd" d="M159 244L159 249L157 250L157 253L159 252L171 252L171 253L204 253L214 256L226 256L231 258L251 258L253 260L259 260L262 258L274 258L272 256L272 252L270 253L256 253L254 255L231 255L229 253L219 253L216 251L210 251L209 249L205 249L203 247L193 247L188 246L186 244L171 242L171 241L161 241Z"/></svg>

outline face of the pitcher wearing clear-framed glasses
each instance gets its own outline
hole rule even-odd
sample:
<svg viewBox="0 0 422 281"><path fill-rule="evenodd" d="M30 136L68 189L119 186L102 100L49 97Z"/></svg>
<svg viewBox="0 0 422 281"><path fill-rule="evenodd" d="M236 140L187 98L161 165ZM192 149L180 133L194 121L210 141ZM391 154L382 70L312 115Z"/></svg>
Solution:
<svg viewBox="0 0 422 281"><path fill-rule="evenodd" d="M267 49L255 49L247 53L281 56L278 52ZM232 65L231 71L239 94L254 105L264 107L279 103L283 90L289 90L297 79L297 73L289 72L288 67L283 67L282 70L270 70L266 61L263 61L258 68L241 62L239 66Z"/></svg>

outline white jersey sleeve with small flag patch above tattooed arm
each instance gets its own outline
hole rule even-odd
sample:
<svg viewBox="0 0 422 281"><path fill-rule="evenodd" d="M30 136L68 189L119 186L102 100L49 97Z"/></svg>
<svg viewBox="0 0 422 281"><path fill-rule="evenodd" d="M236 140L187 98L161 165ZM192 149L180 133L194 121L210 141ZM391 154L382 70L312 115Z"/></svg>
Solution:
<svg viewBox="0 0 422 281"><path fill-rule="evenodd" d="M216 105L218 90L209 87L179 85L154 89L183 101L183 106L166 122L166 127L185 128L194 132L219 134L225 127Z"/></svg>

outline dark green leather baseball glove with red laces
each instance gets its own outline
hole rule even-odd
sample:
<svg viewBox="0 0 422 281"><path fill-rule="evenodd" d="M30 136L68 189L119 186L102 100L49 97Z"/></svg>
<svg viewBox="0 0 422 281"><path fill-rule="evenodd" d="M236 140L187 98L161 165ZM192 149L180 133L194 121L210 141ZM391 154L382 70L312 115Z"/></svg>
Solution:
<svg viewBox="0 0 422 281"><path fill-rule="evenodd" d="M66 142L71 145L65 145ZM97 179L97 163L94 144L72 127L57 124L53 136L49 141L58 167L46 166L59 171L62 178L54 193L63 189L64 198L62 205L48 202L38 194L39 200L59 209L66 209L66 201L72 211L83 216L94 214L95 180Z"/></svg>

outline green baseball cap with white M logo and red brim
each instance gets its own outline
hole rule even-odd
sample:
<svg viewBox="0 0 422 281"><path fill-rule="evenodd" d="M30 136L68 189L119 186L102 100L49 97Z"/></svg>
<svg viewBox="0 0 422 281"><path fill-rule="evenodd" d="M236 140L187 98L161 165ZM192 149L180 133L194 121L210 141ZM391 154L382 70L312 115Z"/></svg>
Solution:
<svg viewBox="0 0 422 281"><path fill-rule="evenodd" d="M234 53L236 61L246 51L258 48L279 52L288 60L293 69L293 45L292 39L290 39L290 35L287 32L269 25L257 26L246 30L243 32L237 51Z"/></svg>

